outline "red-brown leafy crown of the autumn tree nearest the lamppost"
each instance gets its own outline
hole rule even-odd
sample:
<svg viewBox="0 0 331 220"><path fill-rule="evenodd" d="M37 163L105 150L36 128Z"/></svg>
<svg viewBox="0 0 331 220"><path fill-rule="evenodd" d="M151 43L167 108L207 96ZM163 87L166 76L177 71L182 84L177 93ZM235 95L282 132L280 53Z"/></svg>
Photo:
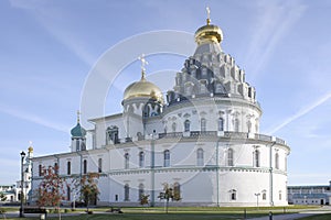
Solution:
<svg viewBox="0 0 331 220"><path fill-rule="evenodd" d="M40 207L60 207L64 197L65 179L58 175L58 166L42 168L43 179L39 185L36 204Z"/></svg>

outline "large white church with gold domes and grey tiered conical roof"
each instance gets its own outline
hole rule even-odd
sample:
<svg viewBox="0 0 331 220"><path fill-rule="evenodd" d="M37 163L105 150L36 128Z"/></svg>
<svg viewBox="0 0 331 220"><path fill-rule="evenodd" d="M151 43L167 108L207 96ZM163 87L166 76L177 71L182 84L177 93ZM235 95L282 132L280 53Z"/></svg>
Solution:
<svg viewBox="0 0 331 220"><path fill-rule="evenodd" d="M287 206L290 148L259 133L256 90L222 51L222 40L207 19L167 95L146 79L141 57L141 78L125 89L122 112L90 119L90 131L78 117L71 152L32 158L32 191L43 178L41 167L56 165L66 179L99 173L99 206L140 206L141 195L161 206L164 183L181 197L174 206ZM77 200L75 190L65 190L66 200Z"/></svg>

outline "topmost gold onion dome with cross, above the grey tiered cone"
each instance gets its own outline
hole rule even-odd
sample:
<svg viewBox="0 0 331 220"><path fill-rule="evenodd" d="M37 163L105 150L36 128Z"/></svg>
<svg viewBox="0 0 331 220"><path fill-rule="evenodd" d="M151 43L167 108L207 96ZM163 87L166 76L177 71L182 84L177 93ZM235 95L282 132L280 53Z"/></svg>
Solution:
<svg viewBox="0 0 331 220"><path fill-rule="evenodd" d="M203 44L205 42L211 41L215 43L221 43L222 40L223 32L218 26L211 24L210 9L207 8L206 25L197 29L197 31L195 32L195 42L197 44Z"/></svg>

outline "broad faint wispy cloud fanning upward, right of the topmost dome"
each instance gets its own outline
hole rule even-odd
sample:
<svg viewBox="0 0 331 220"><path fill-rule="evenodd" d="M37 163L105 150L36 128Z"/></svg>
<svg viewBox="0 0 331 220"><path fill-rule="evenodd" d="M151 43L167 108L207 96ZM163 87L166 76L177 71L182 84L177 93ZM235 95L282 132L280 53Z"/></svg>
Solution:
<svg viewBox="0 0 331 220"><path fill-rule="evenodd" d="M281 4L267 2L261 6L264 12L257 18L258 22L254 28L254 35L245 58L246 67L253 78L267 65L280 40L288 34L306 9L306 6L288 2Z"/></svg>

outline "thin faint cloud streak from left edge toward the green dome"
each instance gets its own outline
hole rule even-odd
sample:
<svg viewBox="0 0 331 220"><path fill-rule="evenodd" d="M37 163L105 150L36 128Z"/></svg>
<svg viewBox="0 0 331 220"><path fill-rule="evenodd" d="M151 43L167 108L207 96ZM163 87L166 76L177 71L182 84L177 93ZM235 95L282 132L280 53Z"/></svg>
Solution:
<svg viewBox="0 0 331 220"><path fill-rule="evenodd" d="M50 129L54 129L56 131L61 131L61 132L65 132L67 133L67 128L70 128L68 125L65 124L60 124L53 121L50 121L47 119L43 119L36 114L32 114L29 112L24 112L24 111L20 111L18 109L4 106L4 105L0 105L0 112L7 113L9 116L19 118L19 119L23 119L25 121L31 121L33 123L50 128Z"/></svg>

